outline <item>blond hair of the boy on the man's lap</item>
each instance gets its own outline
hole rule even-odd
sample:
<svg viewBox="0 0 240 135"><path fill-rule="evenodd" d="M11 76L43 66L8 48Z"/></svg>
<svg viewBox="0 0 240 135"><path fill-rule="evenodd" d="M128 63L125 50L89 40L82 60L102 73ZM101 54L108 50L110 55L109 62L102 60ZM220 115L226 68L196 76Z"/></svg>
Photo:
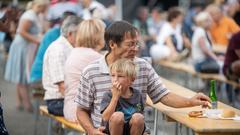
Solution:
<svg viewBox="0 0 240 135"><path fill-rule="evenodd" d="M135 78L137 75L137 66L133 63L132 60L123 58L115 61L110 65L110 71L113 70L123 73L128 77Z"/></svg>

